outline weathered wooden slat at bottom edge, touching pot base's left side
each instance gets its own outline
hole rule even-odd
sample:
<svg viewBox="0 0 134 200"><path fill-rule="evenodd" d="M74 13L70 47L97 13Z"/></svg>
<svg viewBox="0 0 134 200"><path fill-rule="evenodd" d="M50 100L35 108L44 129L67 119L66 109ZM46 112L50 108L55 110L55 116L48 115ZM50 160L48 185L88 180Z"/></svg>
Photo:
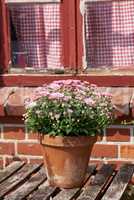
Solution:
<svg viewBox="0 0 134 200"><path fill-rule="evenodd" d="M28 200L48 200L53 197L55 193L59 191L56 187L51 187L46 184L42 184L37 191L32 193L27 199Z"/></svg>

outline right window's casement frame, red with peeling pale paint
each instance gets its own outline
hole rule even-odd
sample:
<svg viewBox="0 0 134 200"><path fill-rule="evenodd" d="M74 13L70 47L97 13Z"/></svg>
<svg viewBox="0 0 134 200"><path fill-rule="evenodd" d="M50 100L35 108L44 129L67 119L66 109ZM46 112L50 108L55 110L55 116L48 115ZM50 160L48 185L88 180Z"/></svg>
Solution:
<svg viewBox="0 0 134 200"><path fill-rule="evenodd" d="M86 2L109 2L112 0L78 0L77 1L77 43L78 43L78 66L79 71L83 74L90 74L92 76L131 76L134 74L134 69L131 67L129 68L116 68L116 69L91 69L90 67L86 66L86 49L85 49L85 38L84 38L84 4ZM118 1L118 0L114 0ZM84 66L85 65L85 66ZM85 68L86 67L86 68Z"/></svg>

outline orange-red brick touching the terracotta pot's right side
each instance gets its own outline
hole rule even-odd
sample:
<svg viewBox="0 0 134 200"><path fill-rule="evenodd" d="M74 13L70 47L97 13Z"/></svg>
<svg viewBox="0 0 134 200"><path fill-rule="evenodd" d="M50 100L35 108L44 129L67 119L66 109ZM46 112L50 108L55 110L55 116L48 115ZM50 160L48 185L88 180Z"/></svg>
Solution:
<svg viewBox="0 0 134 200"><path fill-rule="evenodd" d="M117 145L95 144L92 150L91 157L94 158L117 158L118 147Z"/></svg>

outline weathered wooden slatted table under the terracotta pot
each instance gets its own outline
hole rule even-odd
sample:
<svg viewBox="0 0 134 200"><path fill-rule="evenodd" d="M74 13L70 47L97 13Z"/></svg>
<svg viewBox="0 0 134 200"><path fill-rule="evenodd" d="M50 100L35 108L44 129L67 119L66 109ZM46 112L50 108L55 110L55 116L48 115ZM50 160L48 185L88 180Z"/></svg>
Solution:
<svg viewBox="0 0 134 200"><path fill-rule="evenodd" d="M43 164L13 162L0 171L0 200L119 200L133 173L132 164L90 165L81 188L60 189L48 185Z"/></svg>

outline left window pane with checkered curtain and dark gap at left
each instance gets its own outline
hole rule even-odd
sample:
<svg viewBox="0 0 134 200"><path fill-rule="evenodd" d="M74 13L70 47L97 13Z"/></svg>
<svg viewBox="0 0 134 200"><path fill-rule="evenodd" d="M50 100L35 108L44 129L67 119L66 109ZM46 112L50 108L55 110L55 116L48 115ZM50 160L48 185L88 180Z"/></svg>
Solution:
<svg viewBox="0 0 134 200"><path fill-rule="evenodd" d="M12 67L62 69L60 0L7 0Z"/></svg>

